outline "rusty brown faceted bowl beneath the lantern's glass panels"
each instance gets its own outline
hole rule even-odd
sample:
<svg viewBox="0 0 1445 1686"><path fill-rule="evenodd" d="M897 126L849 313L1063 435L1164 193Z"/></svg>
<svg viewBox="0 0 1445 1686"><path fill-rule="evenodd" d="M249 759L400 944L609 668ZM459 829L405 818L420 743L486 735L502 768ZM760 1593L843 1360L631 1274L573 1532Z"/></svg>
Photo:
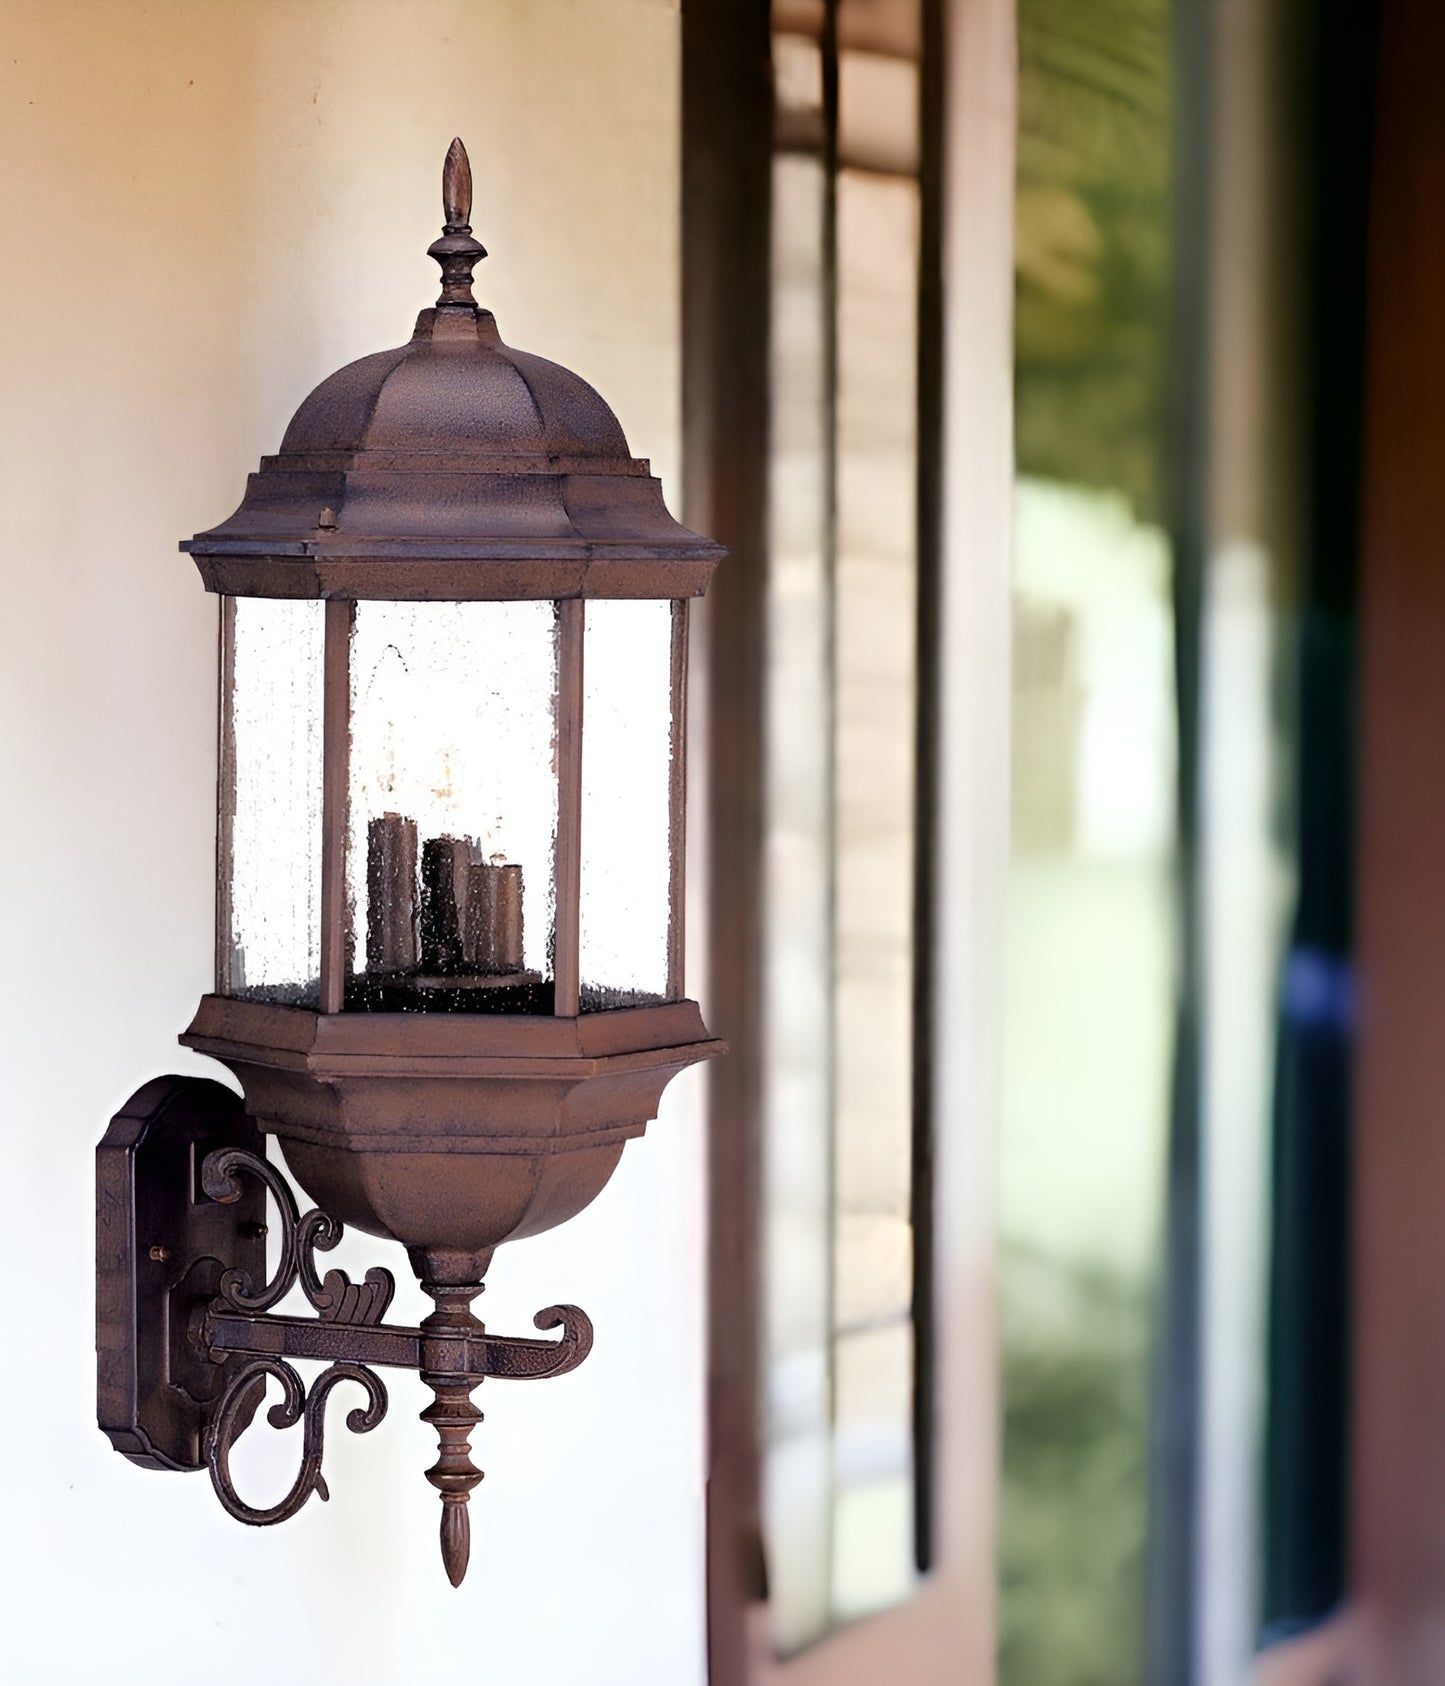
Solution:
<svg viewBox="0 0 1445 1686"><path fill-rule="evenodd" d="M236 1074L319 1205L403 1243L418 1271L573 1217L668 1082L723 1052L695 1001L551 1018L207 995L180 1040Z"/></svg>

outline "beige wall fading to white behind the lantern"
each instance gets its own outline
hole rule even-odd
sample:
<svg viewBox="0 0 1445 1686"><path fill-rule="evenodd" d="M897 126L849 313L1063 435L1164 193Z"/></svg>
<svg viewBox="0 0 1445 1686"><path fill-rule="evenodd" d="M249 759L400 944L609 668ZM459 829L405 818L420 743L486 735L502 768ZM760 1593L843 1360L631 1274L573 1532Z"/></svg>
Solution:
<svg viewBox="0 0 1445 1686"><path fill-rule="evenodd" d="M148 1076L206 1064L174 1037L211 963L216 604L175 541L234 506L325 373L410 334L454 133L492 251L479 295L676 487L676 3L5 0L0 20L0 1674L690 1686L695 1087L588 1214L492 1270L492 1327L577 1300L597 1349L482 1389L459 1593L413 1379L374 1435L334 1413L329 1506L251 1531L204 1475L110 1450L91 1369L94 1141ZM386 1251L347 1243L352 1266ZM408 1280L398 1313L418 1302ZM271 1436L258 1495L290 1455Z"/></svg>

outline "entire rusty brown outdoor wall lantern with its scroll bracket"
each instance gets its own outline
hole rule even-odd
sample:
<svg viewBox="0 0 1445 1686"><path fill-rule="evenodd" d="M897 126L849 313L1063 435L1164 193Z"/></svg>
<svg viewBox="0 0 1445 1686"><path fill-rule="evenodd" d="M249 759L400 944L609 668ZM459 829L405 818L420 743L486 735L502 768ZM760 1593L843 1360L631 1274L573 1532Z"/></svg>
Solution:
<svg viewBox="0 0 1445 1686"><path fill-rule="evenodd" d="M236 514L180 546L221 597L216 993L180 1040L244 1099L148 1082L96 1190L115 1447L207 1467L231 1516L280 1522L327 1497L330 1391L363 1389L366 1431L374 1367L413 1369L454 1585L472 1391L592 1345L567 1305L534 1320L560 1339L489 1334L470 1307L494 1249L580 1212L668 1081L722 1052L681 998L688 602L722 550L673 521L590 386L501 341L470 201L457 140L435 309L322 381ZM388 1271L319 1275L342 1224L405 1244L418 1329L383 1322ZM297 1285L315 1317L273 1312ZM329 1367L307 1389L293 1359ZM268 1377L302 1465L260 1509L229 1455Z"/></svg>

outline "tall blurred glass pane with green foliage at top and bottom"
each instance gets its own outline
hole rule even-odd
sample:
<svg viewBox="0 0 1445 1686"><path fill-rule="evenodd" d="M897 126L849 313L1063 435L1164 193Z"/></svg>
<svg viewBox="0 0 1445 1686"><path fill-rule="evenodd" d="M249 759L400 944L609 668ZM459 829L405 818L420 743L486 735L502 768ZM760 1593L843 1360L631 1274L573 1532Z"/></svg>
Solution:
<svg viewBox="0 0 1445 1686"><path fill-rule="evenodd" d="M1145 1614L1150 1529L1202 1541L1214 1506L1174 1479L1194 1457L1187 1418L1165 1409L1150 1421L1152 1381L1168 1377L1153 1401L1165 1404L1179 1356L1194 1362L1199 1350L1192 1313L1160 1315L1192 1303L1194 1286L1158 1276L1194 1229L1194 1172L1180 1170L1168 1204L1163 1173L1172 1096L1184 1120L1199 1069L1192 1030L1175 1037L1195 975L1179 942L1182 887L1202 882L1175 851L1174 651L1190 649L1190 631L1174 620L1167 533L1195 472L1170 447L1194 420L1184 432L1163 422L1182 393L1172 352L1194 325L1190 309L1172 320L1172 236L1199 226L1195 211L1179 214L1189 192L1177 197L1170 170L1179 157L1190 169L1204 160L1172 145L1192 123L1172 108L1172 10L1168 0L1018 8L1020 474L998 1140L1003 1686L1143 1686L1190 1673L1175 1600L1204 1595L1201 1614L1212 1597L1197 1573L1175 1588L1163 1570L1163 1602ZM1231 126L1244 118L1253 132L1254 93L1253 83L1233 91ZM1249 211L1227 204L1226 221L1249 226ZM1251 391L1268 389L1260 359L1234 361ZM1231 437L1241 418L1249 432L1248 405L1217 410L1216 395L1216 413L1229 415ZM1201 416L1201 442L1207 432ZM1217 470L1211 487L1224 484ZM1236 514L1224 528L1238 531ZM1192 658L1187 686L1190 668ZM1190 1120L1177 1141L1180 1168L1197 1160L1195 1130ZM1170 1236L1174 1214L1190 1216ZM1165 1344L1152 1352L1155 1332ZM1150 1634L1167 1657L1148 1654Z"/></svg>

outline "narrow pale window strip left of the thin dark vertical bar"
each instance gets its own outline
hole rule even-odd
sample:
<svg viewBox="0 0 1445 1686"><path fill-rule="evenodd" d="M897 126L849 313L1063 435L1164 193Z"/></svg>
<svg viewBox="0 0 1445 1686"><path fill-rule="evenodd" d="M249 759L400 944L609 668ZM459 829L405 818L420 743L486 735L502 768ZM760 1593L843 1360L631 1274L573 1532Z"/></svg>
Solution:
<svg viewBox="0 0 1445 1686"><path fill-rule="evenodd" d="M764 1522L772 1639L831 1615L831 771L823 164L772 167L764 771Z"/></svg>

